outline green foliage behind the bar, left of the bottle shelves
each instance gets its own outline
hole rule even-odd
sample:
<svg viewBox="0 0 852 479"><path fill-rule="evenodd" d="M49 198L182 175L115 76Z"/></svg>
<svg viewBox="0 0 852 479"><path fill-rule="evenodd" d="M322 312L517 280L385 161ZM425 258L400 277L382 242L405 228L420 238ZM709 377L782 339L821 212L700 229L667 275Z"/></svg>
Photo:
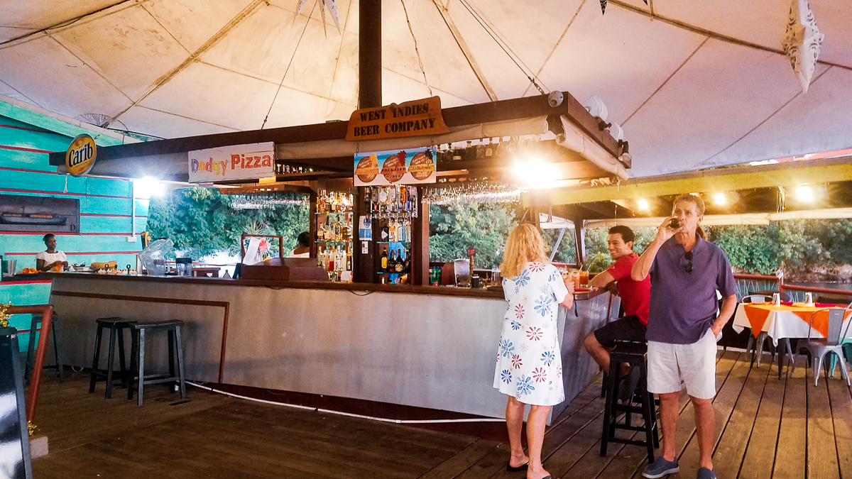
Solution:
<svg viewBox="0 0 852 479"><path fill-rule="evenodd" d="M233 210L231 199L216 188L186 188L153 197L148 208L148 232L153 240L168 238L177 250L193 258L217 251L239 251L243 233L280 234L285 250L296 246L296 236L308 231L308 208ZM278 245L274 245L277 250Z"/></svg>

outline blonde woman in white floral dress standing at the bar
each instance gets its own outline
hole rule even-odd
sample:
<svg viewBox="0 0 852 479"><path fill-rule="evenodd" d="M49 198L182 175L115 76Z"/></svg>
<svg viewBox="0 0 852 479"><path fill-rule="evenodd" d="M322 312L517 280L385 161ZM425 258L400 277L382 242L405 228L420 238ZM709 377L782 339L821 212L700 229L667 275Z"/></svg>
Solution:
<svg viewBox="0 0 852 479"><path fill-rule="evenodd" d="M556 267L547 263L544 240L531 224L518 225L509 233L500 270L509 308L503 319L494 387L509 395L506 427L512 454L506 469L526 469L527 479L544 479L550 477L541 464L544 424L550 407L565 401L556 314L560 305L573 306L573 283L562 280ZM528 457L521 445L527 404L531 405Z"/></svg>

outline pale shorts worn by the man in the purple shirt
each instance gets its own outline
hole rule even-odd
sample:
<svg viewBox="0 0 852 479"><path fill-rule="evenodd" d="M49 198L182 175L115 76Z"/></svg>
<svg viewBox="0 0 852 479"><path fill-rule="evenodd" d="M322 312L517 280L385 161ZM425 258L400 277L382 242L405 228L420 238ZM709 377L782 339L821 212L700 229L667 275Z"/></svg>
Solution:
<svg viewBox="0 0 852 479"><path fill-rule="evenodd" d="M648 391L680 392L682 381L688 395L712 399L716 395L716 352L710 329L692 344L648 341Z"/></svg>

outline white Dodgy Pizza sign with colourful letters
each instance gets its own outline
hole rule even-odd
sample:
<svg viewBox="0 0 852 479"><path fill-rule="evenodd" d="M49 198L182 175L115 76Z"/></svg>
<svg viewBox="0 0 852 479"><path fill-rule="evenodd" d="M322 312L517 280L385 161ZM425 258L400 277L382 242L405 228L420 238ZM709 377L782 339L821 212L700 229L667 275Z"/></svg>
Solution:
<svg viewBox="0 0 852 479"><path fill-rule="evenodd" d="M189 152L189 181L222 182L274 176L275 143L250 143Z"/></svg>

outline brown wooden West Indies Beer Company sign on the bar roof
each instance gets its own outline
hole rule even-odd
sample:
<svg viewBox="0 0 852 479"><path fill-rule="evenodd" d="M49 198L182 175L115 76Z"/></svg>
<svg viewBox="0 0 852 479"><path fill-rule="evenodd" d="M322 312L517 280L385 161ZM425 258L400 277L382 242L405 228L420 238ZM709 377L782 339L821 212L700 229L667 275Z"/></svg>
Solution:
<svg viewBox="0 0 852 479"><path fill-rule="evenodd" d="M355 110L349 117L348 141L429 136L448 133L440 113L440 96L388 107Z"/></svg>

